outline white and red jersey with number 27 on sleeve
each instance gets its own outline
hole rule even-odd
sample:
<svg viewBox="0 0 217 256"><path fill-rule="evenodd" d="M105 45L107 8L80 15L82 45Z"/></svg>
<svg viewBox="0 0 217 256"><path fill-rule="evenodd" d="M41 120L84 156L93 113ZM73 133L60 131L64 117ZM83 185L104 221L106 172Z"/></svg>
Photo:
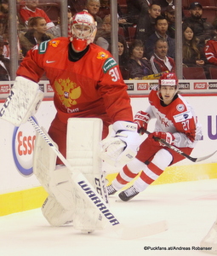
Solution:
<svg viewBox="0 0 217 256"><path fill-rule="evenodd" d="M168 105L157 96L157 87L149 95L151 106L146 109L151 118L156 118L155 131L171 132L174 134L177 147L194 148L195 141L202 137L201 125L197 123L193 108L179 94Z"/></svg>

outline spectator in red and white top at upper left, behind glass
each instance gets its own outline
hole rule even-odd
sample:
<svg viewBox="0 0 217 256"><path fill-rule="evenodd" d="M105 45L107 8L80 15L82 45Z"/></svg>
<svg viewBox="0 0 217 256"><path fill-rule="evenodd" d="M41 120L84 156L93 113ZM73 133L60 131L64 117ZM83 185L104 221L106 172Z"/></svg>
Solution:
<svg viewBox="0 0 217 256"><path fill-rule="evenodd" d="M43 17L47 22L47 29L54 37L60 37L60 30L56 28L54 22L49 19L49 16L43 11L43 9L37 8L38 0L26 0L26 6L20 9L20 22L24 22L28 25L28 20L31 17Z"/></svg>

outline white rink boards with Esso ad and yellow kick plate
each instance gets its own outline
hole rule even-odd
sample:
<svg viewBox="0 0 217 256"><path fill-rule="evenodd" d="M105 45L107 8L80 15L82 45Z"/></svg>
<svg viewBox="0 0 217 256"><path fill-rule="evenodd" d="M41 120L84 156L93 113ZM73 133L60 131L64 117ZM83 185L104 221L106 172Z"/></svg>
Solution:
<svg viewBox="0 0 217 256"><path fill-rule="evenodd" d="M148 106L147 95L149 89L145 90L146 84L144 81L142 81L142 86L141 84L139 84L139 86L138 83L139 82L133 83L134 90L128 90L131 96L134 113L139 110L145 111ZM130 82L130 84L132 83ZM2 87L1 85L2 84L0 84L0 89L3 89L3 85ZM45 85L46 84L43 83L43 86ZM129 89L131 89L130 86L128 85ZM148 86L150 86L150 84ZM50 122L54 119L55 109L50 95L52 94L52 90L50 90L48 84L45 87L47 88L46 90L49 89L49 91L46 91L46 97L35 119L40 126L48 130ZM138 90L138 88L140 90ZM144 90L141 91L141 88ZM192 88L190 88L190 90L191 89ZM203 89L194 90L195 93L193 94L190 90L185 89L180 91L180 93L183 94L183 96L186 95L186 100L191 103L191 106L197 113L199 121L203 125L203 140L197 143L197 147L191 154L193 157L200 157L210 154L217 149L217 95L216 92L213 91L213 88L212 90L207 90L209 94L205 94ZM3 95L7 96L7 93L8 90L0 90L0 99L2 98L0 107L3 106ZM149 125L149 131L152 130L153 125L154 123ZM32 175L32 151L36 135L33 127L31 127L29 123L21 125L20 127L14 127L14 125L2 119L0 119L0 127L0 216L41 207L47 195L40 186L40 183L37 182L36 177ZM203 161L201 164L193 163L190 160L183 160L176 166L168 167L154 184L217 178L216 159L217 154ZM106 171L110 173L108 179L111 181L116 175L117 170Z"/></svg>

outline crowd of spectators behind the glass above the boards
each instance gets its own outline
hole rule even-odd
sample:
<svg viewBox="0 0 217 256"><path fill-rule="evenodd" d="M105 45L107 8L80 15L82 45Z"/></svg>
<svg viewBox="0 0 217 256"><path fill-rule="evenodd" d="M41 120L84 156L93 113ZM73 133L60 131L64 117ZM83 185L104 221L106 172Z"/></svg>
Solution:
<svg viewBox="0 0 217 256"><path fill-rule="evenodd" d="M203 3L187 2L188 8L182 10L182 65L203 67L206 78L210 79L209 67L217 66L217 11L214 20L208 22L203 15ZM34 45L61 36L60 13L52 19L43 3L46 1L17 0L20 61ZM58 1L49 3L55 5ZM68 37L71 38L72 16L87 9L97 22L94 44L111 51L110 0L67 0L67 4ZM117 18L118 61L123 79L175 71L173 0L117 0ZM9 0L0 0L0 80L10 79L8 20Z"/></svg>

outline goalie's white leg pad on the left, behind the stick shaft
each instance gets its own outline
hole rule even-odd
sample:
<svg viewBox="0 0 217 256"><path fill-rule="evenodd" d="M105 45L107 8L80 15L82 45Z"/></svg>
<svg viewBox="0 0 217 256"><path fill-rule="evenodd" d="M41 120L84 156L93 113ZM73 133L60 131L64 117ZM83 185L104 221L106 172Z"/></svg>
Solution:
<svg viewBox="0 0 217 256"><path fill-rule="evenodd" d="M43 216L53 226L71 224L74 213L71 175L66 166L56 166L56 154L38 133L33 154L33 172L49 194L43 203Z"/></svg>

